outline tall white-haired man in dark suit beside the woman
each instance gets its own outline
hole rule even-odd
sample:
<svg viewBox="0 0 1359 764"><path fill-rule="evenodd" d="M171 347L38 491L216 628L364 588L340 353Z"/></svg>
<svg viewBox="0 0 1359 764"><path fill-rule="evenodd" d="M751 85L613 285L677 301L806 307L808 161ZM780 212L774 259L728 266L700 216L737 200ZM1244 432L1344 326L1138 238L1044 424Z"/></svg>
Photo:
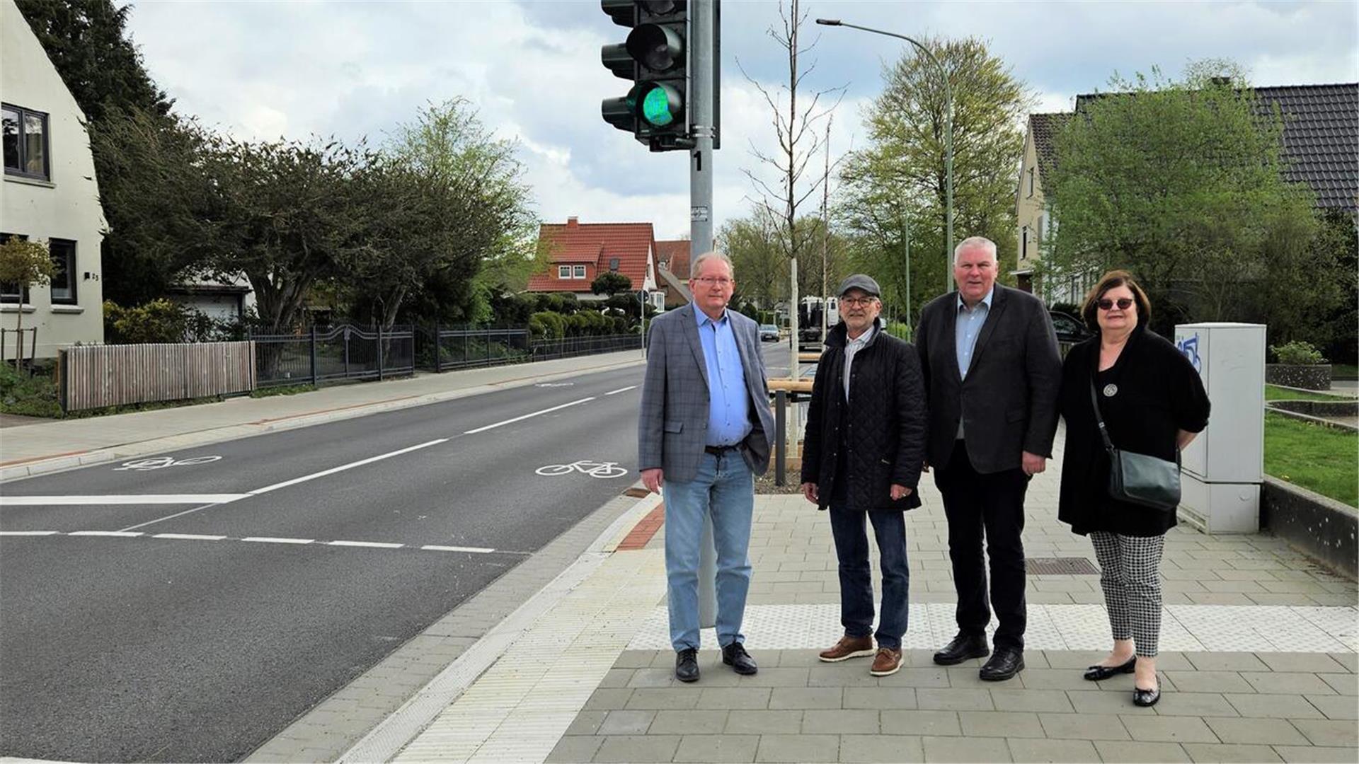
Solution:
<svg viewBox="0 0 1359 764"><path fill-rule="evenodd" d="M930 404L925 459L943 495L958 591L958 636L934 661L989 654L993 606L995 655L981 678L999 681L1023 670L1023 498L1052 455L1061 359L1042 302L996 284L995 242L964 239L953 262L958 291L927 305L916 328Z"/></svg>

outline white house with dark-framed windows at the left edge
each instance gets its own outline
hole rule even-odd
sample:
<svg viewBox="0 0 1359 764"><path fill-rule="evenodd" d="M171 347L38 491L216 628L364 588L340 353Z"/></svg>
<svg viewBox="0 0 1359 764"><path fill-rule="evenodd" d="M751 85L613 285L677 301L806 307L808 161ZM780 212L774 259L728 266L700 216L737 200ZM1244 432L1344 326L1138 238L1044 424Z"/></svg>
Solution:
<svg viewBox="0 0 1359 764"><path fill-rule="evenodd" d="M102 343L99 246L106 224L90 135L14 0L0 0L0 238L48 242L57 265L50 285L0 284L0 328L14 329L22 311L23 326L38 330L37 358L75 343Z"/></svg>

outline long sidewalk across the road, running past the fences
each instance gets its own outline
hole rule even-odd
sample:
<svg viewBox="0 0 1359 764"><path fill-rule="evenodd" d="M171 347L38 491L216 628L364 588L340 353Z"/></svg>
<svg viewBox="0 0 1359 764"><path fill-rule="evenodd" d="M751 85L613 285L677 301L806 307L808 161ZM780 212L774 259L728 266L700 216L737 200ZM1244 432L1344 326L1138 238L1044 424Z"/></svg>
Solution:
<svg viewBox="0 0 1359 764"><path fill-rule="evenodd" d="M0 434L0 480L249 438L640 363L640 351L626 351L419 374L385 382L322 387L294 396L241 397L215 404L7 427Z"/></svg>

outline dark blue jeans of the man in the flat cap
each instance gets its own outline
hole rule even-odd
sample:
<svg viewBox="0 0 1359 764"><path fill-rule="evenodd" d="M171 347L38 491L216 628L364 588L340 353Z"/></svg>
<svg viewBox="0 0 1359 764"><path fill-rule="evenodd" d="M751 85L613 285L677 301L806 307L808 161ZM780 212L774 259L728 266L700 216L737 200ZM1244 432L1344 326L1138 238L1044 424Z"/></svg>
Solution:
<svg viewBox="0 0 1359 764"><path fill-rule="evenodd" d="M882 561L882 619L878 621L878 647L901 650L906 633L906 595L911 572L906 570L906 518L897 510L863 511L830 507L830 533L840 557L840 624L849 636L872 633L872 571L868 567L868 534L864 515L872 522Z"/></svg>

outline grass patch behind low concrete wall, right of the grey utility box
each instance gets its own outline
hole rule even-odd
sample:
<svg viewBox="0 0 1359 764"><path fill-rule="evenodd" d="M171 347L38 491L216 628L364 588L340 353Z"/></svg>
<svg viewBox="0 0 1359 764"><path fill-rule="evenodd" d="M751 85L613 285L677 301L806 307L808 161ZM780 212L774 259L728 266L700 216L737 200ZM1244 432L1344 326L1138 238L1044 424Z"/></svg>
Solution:
<svg viewBox="0 0 1359 764"><path fill-rule="evenodd" d="M1359 432L1265 412L1265 472L1359 507Z"/></svg>

